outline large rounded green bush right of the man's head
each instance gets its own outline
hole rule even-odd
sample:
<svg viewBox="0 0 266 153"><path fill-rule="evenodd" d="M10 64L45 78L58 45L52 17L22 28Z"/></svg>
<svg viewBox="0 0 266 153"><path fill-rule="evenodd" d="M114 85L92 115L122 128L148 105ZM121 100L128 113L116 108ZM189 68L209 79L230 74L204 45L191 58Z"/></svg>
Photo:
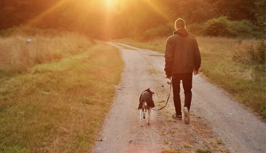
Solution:
<svg viewBox="0 0 266 153"><path fill-rule="evenodd" d="M263 37L258 27L248 20L231 21L221 16L208 20L204 27L203 33L208 36Z"/></svg>

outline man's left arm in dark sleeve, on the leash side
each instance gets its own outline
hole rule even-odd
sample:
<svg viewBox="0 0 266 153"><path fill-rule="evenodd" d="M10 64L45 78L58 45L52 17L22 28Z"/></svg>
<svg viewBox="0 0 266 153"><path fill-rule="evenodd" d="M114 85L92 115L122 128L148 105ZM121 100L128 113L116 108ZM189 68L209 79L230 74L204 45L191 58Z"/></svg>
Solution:
<svg viewBox="0 0 266 153"><path fill-rule="evenodd" d="M173 44L172 43L173 42L171 39L172 39L171 37L167 39L166 46L165 46L165 55L164 55L164 58L165 58L164 71L165 71L167 78L170 78L172 75L172 65L173 65L173 50L172 50Z"/></svg>

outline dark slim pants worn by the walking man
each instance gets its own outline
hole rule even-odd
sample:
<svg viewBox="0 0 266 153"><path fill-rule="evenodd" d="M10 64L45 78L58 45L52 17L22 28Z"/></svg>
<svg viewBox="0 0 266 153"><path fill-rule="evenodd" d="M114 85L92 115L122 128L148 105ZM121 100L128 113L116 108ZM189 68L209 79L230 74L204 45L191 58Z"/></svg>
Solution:
<svg viewBox="0 0 266 153"><path fill-rule="evenodd" d="M173 103L175 107L176 115L182 115L181 113L181 99L180 99L180 81L182 80L183 89L185 92L185 106L190 109L192 98L192 75L193 73L176 73L172 77L173 86Z"/></svg>

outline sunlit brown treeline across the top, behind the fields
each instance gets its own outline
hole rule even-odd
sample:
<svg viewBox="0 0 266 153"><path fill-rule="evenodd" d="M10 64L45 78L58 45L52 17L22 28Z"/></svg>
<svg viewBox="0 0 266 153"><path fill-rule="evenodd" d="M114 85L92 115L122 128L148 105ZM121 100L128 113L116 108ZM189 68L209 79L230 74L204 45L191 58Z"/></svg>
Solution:
<svg viewBox="0 0 266 153"><path fill-rule="evenodd" d="M0 30L27 25L98 39L167 35L177 18L184 18L194 33L214 36L266 27L266 0L2 0L0 5Z"/></svg>

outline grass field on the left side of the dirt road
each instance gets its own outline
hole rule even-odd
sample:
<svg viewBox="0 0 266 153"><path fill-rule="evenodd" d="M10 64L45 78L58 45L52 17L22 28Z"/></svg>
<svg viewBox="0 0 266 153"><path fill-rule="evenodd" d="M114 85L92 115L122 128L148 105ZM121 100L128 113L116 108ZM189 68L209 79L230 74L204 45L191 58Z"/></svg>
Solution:
<svg viewBox="0 0 266 153"><path fill-rule="evenodd" d="M61 48L62 42L65 48L72 49L73 54L62 47L58 49L61 58L45 60L42 64L33 62L19 73L12 72L12 66L17 69L16 64L2 62L0 152L91 151L112 104L123 61L119 50L104 42L92 44L87 41L81 42L82 47L78 43L73 47L64 44L68 41L54 39L57 41L53 47ZM12 47L20 38L6 40L12 44L6 41L4 45ZM43 43L41 47L49 47L50 41ZM14 43L13 47L30 50L24 44ZM11 54L16 54L15 49ZM20 58L10 56L9 59L16 63ZM2 60L9 63L3 56Z"/></svg>

